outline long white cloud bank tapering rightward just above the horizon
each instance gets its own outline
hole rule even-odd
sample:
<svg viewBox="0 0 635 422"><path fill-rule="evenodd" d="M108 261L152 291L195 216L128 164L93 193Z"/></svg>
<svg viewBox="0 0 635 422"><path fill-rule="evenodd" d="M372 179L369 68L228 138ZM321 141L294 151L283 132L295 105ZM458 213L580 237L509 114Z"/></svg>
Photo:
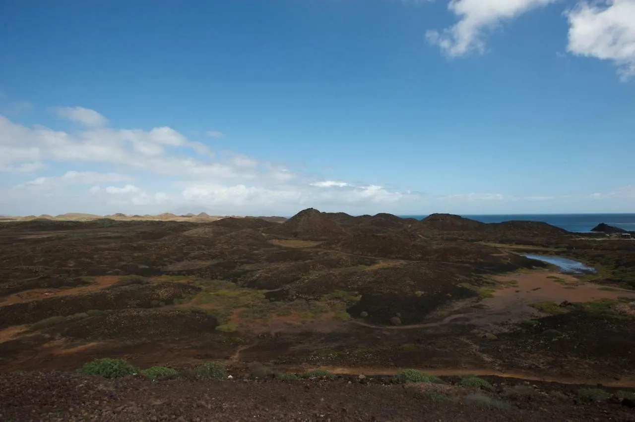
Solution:
<svg viewBox="0 0 635 422"><path fill-rule="evenodd" d="M572 207L623 211L627 208L620 207L635 203L635 186L575 198L434 196L331 180L246 155L219 155L170 127L117 129L95 110L52 110L72 129L29 127L0 115L0 214L293 215L309 207L350 214L509 214L519 209L575 212Z"/></svg>

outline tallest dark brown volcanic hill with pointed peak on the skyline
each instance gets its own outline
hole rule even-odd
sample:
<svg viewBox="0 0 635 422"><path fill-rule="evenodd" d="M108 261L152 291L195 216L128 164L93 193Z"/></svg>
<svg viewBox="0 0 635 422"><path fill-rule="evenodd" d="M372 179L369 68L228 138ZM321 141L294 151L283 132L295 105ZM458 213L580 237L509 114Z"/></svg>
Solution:
<svg viewBox="0 0 635 422"><path fill-rule="evenodd" d="M346 234L328 214L314 208L300 211L282 224L265 231L274 236L304 240L329 240Z"/></svg>

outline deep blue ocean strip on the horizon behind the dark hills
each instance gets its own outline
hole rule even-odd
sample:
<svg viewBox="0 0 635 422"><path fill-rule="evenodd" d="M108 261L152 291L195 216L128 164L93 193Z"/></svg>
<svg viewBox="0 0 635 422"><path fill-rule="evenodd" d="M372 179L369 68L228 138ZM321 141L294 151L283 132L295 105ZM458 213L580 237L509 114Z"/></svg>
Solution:
<svg viewBox="0 0 635 422"><path fill-rule="evenodd" d="M402 218L424 219L427 215L399 215ZM635 231L635 214L501 214L501 215L462 215L462 217L485 223L512 220L542 221L566 231L589 233L591 229L603 222L609 226Z"/></svg>

